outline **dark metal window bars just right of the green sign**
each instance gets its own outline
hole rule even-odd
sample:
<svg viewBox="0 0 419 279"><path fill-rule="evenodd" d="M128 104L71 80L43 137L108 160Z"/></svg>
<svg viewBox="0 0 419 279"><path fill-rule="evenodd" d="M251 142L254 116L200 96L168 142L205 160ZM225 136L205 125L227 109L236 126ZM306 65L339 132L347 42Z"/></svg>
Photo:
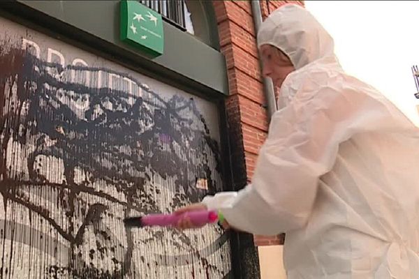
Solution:
<svg viewBox="0 0 419 279"><path fill-rule="evenodd" d="M143 5L163 15L163 19L186 30L184 0L140 0Z"/></svg>

